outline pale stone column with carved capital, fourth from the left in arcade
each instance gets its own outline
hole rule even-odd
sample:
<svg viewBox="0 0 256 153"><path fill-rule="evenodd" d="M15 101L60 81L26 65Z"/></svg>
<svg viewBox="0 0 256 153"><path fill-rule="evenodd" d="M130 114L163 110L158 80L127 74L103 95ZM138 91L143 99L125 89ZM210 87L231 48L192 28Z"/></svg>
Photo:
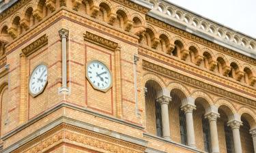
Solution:
<svg viewBox="0 0 256 153"><path fill-rule="evenodd" d="M241 120L231 120L227 122L227 125L231 127L233 132L233 146L235 148L235 153L242 153L242 145L239 131L239 128L242 125Z"/></svg>

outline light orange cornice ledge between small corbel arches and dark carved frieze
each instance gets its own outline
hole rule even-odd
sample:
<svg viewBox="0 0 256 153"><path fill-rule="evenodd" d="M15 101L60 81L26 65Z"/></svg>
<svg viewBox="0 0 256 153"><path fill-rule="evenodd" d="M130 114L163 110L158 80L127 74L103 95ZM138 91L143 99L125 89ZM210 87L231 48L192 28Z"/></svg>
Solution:
<svg viewBox="0 0 256 153"><path fill-rule="evenodd" d="M150 48L141 47L139 48L139 54L143 54L143 56L148 56L152 59L159 60L162 63L168 63L168 64L171 63L171 65L174 65L175 67L180 67L181 69L190 71L190 73L197 73L198 75L201 75L202 77L207 78L208 80L210 79L210 80L213 80L214 82L232 86L233 88L242 90L243 92L246 92L248 93L248 95L251 95L253 97L254 95L256 95L256 90L251 86L245 86L240 82L228 80L222 75L216 75L215 73L212 73L212 71L202 70L202 69L199 69L198 67L195 67L194 65L188 65L187 63L184 63L184 61L179 61L177 58L173 56L156 52L156 50L151 50Z"/></svg>

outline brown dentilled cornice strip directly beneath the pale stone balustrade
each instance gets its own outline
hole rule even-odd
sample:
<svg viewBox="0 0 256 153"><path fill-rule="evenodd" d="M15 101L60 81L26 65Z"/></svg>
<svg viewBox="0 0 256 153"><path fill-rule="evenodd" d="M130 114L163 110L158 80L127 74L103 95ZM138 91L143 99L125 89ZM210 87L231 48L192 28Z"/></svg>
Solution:
<svg viewBox="0 0 256 153"><path fill-rule="evenodd" d="M152 18L150 16L146 16L146 20L147 20L147 22L150 22L150 23L152 23L152 24L154 24L158 27L161 27L163 29L166 29L167 31L171 31L173 33L176 33L177 35L181 35L182 37L186 37L187 39L190 39L190 40L196 41L197 43L203 44L204 46L207 46L207 47L212 48L214 50L218 50L220 52L223 52L225 54L228 54L229 56L233 56L235 58L238 58L238 59L240 59L242 61L245 61L247 63L251 63L253 65L256 65L256 60L249 57L249 56L245 56L243 54L240 54L238 52L235 52L233 50L230 50L230 49L225 48L223 46L220 46L218 44L215 44L212 41L208 41L206 39L203 39L201 37L198 37L196 35L193 35L191 33L183 31L181 29L177 29L176 27L173 27L169 24L166 24L165 22L162 22L162 21L157 20L155 18Z"/></svg>

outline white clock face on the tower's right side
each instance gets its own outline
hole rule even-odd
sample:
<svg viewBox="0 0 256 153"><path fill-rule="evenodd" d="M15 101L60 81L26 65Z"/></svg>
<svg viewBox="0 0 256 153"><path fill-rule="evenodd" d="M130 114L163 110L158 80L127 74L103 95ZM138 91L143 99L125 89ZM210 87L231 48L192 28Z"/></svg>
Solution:
<svg viewBox="0 0 256 153"><path fill-rule="evenodd" d="M91 61L87 64L86 76L91 85L98 90L106 91L112 85L111 72L100 61Z"/></svg>

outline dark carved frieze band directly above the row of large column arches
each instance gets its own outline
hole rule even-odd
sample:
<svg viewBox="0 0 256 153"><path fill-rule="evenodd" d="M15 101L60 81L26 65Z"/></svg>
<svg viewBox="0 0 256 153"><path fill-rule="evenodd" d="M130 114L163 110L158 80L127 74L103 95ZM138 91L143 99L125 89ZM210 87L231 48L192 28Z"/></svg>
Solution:
<svg viewBox="0 0 256 153"><path fill-rule="evenodd" d="M149 61L143 60L143 69L146 69L147 71L153 71L154 73L158 73L160 75L165 75L167 78L173 78L175 80L183 82L184 84L190 84L192 86L196 86L197 88L201 88L202 90L207 90L208 92L213 92L215 95L217 94L223 97L227 97L232 101L237 101L238 103L244 103L246 105L256 107L256 101L253 101L246 97L242 97L233 92L229 92L227 90L224 90L223 88L218 88L216 86L212 86L211 84L206 84L205 82L201 82L186 75L177 73L176 71L171 71L170 69L161 67L154 63L150 63Z"/></svg>

